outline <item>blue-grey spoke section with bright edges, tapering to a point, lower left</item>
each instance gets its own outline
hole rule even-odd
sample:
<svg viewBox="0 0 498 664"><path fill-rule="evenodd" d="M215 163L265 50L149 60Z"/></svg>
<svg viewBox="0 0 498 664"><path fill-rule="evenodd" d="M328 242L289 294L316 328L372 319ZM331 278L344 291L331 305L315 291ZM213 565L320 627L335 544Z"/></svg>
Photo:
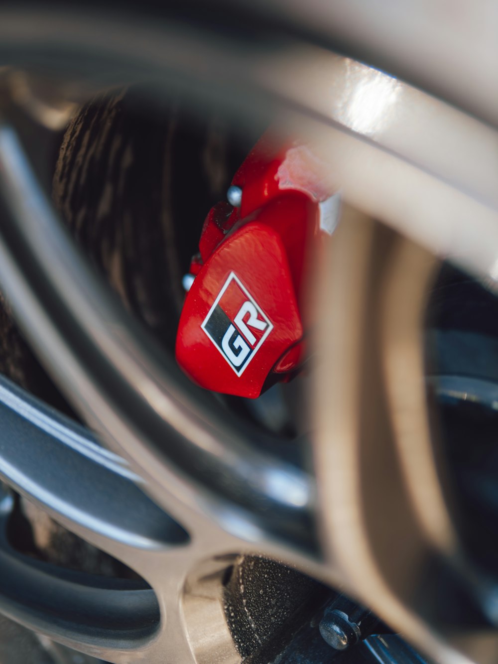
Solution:
<svg viewBox="0 0 498 664"><path fill-rule="evenodd" d="M5 378L0 420L0 476L78 535L111 554L119 544L161 550L188 539L123 459Z"/></svg>

